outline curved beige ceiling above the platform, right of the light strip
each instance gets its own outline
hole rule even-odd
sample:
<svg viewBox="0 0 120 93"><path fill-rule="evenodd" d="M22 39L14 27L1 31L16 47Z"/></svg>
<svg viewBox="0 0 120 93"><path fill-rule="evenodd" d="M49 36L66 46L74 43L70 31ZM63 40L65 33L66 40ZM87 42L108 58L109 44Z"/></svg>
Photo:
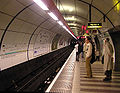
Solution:
<svg viewBox="0 0 120 93"><path fill-rule="evenodd" d="M112 28L120 24L120 0L54 0L58 9L65 17L66 22L79 25L73 29L79 35L82 25L89 22L89 5L91 5L91 22L102 22L105 18L107 28ZM67 18L76 20L68 20ZM78 23L79 22L79 23ZM74 26L75 26L74 25ZM71 28L73 26L69 25Z"/></svg>

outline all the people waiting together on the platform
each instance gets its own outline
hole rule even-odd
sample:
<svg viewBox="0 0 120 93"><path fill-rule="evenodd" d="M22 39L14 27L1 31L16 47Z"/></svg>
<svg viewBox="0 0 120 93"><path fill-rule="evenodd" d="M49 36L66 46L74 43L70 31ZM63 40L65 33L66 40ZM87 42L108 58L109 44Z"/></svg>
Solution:
<svg viewBox="0 0 120 93"><path fill-rule="evenodd" d="M92 59L92 49L94 43L90 37L86 37L85 41L78 41L75 45L76 48L76 61L79 61L79 55L81 53L82 58L86 61L86 73L85 78L92 78L92 69L91 69L91 59ZM100 51L96 50L96 61L100 60ZM104 64L104 72L106 77L103 81L110 81L112 79L112 70L113 70L113 47L110 44L109 38L104 40L103 44L103 53L102 53L102 64ZM103 63L104 62L104 63Z"/></svg>

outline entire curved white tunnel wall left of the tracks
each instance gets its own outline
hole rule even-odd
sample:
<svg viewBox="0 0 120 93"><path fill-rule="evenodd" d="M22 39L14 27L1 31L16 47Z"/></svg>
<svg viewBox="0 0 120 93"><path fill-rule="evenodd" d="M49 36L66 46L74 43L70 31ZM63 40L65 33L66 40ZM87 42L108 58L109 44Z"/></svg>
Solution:
<svg viewBox="0 0 120 93"><path fill-rule="evenodd" d="M72 36L33 0L0 2L1 70L69 45Z"/></svg>

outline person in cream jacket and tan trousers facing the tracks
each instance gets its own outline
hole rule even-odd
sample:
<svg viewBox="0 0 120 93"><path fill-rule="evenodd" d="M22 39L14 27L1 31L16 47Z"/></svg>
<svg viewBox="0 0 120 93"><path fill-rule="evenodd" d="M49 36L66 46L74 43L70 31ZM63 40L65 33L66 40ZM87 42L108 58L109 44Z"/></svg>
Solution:
<svg viewBox="0 0 120 93"><path fill-rule="evenodd" d="M86 37L85 43L86 43L86 49L85 49L85 59L86 59L86 72L87 72L87 77L86 78L92 78L92 69L91 69L91 58L92 58L92 44L91 38Z"/></svg>

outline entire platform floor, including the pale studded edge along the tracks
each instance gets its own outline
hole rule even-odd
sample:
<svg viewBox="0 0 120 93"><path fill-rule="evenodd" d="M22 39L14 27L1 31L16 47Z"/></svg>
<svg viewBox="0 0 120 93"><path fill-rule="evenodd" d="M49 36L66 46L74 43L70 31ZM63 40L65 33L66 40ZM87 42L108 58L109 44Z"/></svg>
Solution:
<svg viewBox="0 0 120 93"><path fill-rule="evenodd" d="M93 78L85 78L85 61L75 61L75 51L55 80L50 92L55 93L120 93L120 72L113 72L111 82L103 82L103 64L92 64Z"/></svg>

